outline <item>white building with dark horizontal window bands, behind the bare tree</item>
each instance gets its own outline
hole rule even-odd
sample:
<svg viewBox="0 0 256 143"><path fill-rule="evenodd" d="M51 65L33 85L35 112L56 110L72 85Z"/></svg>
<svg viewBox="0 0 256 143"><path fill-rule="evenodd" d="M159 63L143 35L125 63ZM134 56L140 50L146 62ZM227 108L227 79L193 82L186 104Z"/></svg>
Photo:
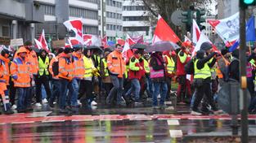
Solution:
<svg viewBox="0 0 256 143"><path fill-rule="evenodd" d="M125 0L123 3L123 31L131 37L144 36L146 41L152 38L150 16L141 1Z"/></svg>

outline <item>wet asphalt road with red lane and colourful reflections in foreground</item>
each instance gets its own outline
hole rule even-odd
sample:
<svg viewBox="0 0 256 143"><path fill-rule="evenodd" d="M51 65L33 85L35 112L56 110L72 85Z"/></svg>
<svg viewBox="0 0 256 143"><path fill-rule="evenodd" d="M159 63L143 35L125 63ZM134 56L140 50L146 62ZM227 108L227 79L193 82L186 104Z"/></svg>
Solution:
<svg viewBox="0 0 256 143"><path fill-rule="evenodd" d="M167 102L169 103L169 102ZM189 115L188 106L172 104L81 108L61 115L47 105L34 113L0 115L0 142L240 142L231 136L229 115ZM250 142L256 137L256 116L249 116Z"/></svg>

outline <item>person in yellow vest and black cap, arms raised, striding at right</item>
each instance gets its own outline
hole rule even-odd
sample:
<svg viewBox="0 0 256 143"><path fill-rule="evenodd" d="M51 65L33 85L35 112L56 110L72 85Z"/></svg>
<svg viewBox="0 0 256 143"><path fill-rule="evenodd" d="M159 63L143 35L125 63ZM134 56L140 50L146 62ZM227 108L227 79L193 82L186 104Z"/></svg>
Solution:
<svg viewBox="0 0 256 143"><path fill-rule="evenodd" d="M211 50L212 45L210 44L204 44L203 46L207 47L204 49ZM201 45L202 47L202 45ZM202 49L202 48L201 48ZM202 98L205 96L207 101L209 102L209 105L212 107L214 114L219 114L222 112L221 110L218 110L217 106L215 105L215 102L213 101L212 91L210 87L211 83L211 71L210 67L213 67L213 65L216 63L216 58L213 58L217 53L212 52L206 57L204 50L199 50L196 53L196 58L194 60L194 86L195 86L195 102L192 104L192 111L191 115L202 115L200 111L198 110L198 106L202 100ZM213 58L212 62L209 63L209 60Z"/></svg>

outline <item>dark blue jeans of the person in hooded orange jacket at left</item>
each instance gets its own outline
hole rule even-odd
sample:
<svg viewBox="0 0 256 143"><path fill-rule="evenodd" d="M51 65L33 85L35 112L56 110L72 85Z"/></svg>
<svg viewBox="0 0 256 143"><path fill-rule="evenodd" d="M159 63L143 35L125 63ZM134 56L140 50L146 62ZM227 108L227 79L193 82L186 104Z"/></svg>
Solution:
<svg viewBox="0 0 256 143"><path fill-rule="evenodd" d="M25 110L29 106L30 88L16 88L18 94L17 110Z"/></svg>

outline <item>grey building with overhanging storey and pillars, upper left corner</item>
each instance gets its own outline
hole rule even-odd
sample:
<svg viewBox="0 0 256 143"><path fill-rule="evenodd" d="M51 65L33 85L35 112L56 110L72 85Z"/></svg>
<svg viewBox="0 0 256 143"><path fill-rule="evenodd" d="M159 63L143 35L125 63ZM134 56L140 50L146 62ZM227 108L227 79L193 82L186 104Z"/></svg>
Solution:
<svg viewBox="0 0 256 143"><path fill-rule="evenodd" d="M34 39L35 24L43 22L43 11L34 0L0 1L0 45L10 39Z"/></svg>

